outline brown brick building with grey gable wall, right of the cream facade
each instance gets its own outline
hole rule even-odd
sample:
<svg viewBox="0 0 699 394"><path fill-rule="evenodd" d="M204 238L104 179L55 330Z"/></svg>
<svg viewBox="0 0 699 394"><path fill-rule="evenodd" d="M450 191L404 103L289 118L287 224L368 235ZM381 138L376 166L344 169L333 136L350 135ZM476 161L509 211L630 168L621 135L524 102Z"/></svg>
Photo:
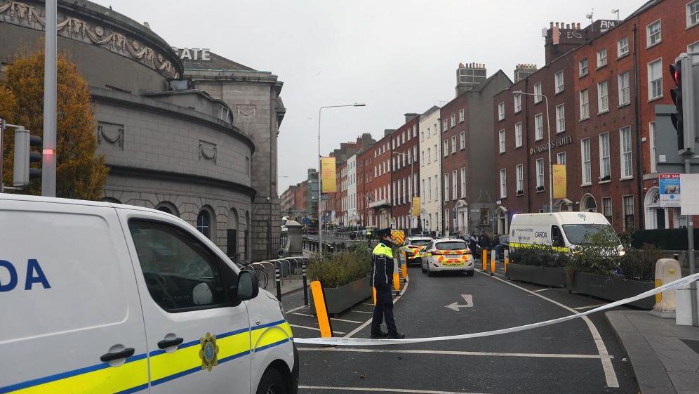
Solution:
<svg viewBox="0 0 699 394"><path fill-rule="evenodd" d="M484 65L470 63L462 69L481 70L478 84L457 83L455 99L441 108L441 185L444 232L451 235L473 230L493 231L495 213L495 160L493 96L512 84L501 70L486 79Z"/></svg>

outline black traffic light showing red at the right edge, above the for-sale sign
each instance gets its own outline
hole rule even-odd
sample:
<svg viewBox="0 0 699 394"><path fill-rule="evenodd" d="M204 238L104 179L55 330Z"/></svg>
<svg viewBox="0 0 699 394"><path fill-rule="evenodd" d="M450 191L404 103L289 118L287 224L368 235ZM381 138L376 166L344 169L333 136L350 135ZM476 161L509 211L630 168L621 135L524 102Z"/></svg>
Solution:
<svg viewBox="0 0 699 394"><path fill-rule="evenodd" d="M696 98L699 89L695 85L695 70L691 57L683 53L670 65L670 77L674 88L670 89L672 103L677 107L670 114L672 126L677 130L677 150L680 155L694 155L696 140ZM699 81L698 81L699 82Z"/></svg>

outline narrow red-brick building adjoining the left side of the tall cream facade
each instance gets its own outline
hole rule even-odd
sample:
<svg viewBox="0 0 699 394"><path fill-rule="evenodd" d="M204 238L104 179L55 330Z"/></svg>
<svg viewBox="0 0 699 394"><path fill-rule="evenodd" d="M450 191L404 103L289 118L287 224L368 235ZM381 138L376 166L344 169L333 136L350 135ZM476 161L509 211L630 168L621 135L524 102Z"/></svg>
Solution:
<svg viewBox="0 0 699 394"><path fill-rule="evenodd" d="M406 123L391 135L390 162L391 224L393 228L417 230L418 223L411 218L412 198L420 195L420 162L418 158L418 114L405 114Z"/></svg>

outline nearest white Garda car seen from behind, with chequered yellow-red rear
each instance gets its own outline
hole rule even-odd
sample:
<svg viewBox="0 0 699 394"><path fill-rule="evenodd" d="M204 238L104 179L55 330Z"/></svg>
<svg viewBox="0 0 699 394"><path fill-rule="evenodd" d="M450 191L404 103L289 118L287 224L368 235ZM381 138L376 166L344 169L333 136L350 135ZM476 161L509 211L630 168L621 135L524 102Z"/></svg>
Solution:
<svg viewBox="0 0 699 394"><path fill-rule="evenodd" d="M443 271L461 271L473 276L473 255L463 239L440 238L427 245L422 257L422 272L432 276L435 272Z"/></svg>

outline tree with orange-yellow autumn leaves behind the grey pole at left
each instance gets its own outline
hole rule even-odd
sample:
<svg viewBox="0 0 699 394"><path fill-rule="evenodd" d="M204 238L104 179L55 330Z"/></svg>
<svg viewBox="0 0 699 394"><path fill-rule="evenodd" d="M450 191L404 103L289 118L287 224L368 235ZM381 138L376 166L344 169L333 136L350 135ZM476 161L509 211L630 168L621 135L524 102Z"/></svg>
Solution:
<svg viewBox="0 0 699 394"><path fill-rule="evenodd" d="M100 199L109 169L104 155L96 155L96 122L90 91L78 67L67 56L58 56L58 119L56 130L56 196ZM33 135L43 136L44 53L15 58L0 81L0 116L21 124ZM6 132L4 180L12 183L14 136ZM29 183L27 192L39 195L41 180Z"/></svg>

